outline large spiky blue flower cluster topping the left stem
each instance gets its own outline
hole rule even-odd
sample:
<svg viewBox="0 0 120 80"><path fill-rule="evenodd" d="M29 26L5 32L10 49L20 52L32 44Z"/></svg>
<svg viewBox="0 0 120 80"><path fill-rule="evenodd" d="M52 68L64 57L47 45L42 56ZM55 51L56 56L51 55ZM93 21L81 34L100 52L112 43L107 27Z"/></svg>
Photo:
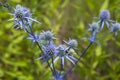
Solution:
<svg viewBox="0 0 120 80"><path fill-rule="evenodd" d="M11 13L11 15L14 16L14 18L10 20L14 20L14 27L15 28L24 28L27 29L27 26L31 26L31 22L35 21L38 22L35 19L32 19L32 15L30 13L30 10L26 7L22 7L21 5L17 5L16 8L14 8L14 12ZM38 22L39 23L39 22Z"/></svg>

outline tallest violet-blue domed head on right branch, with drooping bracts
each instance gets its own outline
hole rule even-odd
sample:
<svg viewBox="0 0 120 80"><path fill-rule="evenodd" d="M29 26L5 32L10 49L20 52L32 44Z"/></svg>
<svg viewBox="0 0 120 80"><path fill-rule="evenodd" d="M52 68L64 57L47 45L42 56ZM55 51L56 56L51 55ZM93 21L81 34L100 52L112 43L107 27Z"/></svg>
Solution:
<svg viewBox="0 0 120 80"><path fill-rule="evenodd" d="M104 24L106 24L107 28L109 28L110 23L114 22L114 21L110 20L110 12L108 10L101 11L101 13L99 15L99 19L100 19L100 29L103 29Z"/></svg>

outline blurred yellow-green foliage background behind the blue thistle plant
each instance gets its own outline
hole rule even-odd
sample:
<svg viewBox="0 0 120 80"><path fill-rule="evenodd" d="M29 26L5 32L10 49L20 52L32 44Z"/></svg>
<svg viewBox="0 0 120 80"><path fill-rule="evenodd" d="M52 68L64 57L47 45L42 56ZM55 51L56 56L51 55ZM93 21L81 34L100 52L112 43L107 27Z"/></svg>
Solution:
<svg viewBox="0 0 120 80"><path fill-rule="evenodd" d="M28 7L33 18L42 22L33 24L34 31L52 30L59 38L57 44L77 39L77 52L88 45L88 24L101 10L108 9L111 19L120 21L120 0L9 0L9 4ZM12 28L10 18L0 6L0 80L50 80L47 65L35 60L40 55L39 49L26 39L24 30ZM97 42L66 80L120 80L120 34L117 37L106 34L105 29L98 35Z"/></svg>

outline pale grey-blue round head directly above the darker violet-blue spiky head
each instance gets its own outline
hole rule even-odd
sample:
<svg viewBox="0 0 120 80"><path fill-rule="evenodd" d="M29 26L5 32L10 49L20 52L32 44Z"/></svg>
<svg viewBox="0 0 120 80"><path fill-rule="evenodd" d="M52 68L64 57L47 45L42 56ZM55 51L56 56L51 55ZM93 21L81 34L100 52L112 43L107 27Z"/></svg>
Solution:
<svg viewBox="0 0 120 80"><path fill-rule="evenodd" d="M41 34L41 39L51 41L55 38L54 38L54 34L52 31L43 31L43 33Z"/></svg>

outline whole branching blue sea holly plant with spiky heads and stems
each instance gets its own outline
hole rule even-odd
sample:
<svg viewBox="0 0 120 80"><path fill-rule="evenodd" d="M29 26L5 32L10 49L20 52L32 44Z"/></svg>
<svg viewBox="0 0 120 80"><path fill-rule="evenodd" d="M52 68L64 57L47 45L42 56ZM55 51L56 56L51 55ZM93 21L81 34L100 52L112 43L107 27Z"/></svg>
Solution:
<svg viewBox="0 0 120 80"><path fill-rule="evenodd" d="M41 56L36 60L43 60L43 63L48 64L54 80L65 79L66 75L72 71L81 58L86 54L92 43L96 41L96 36L104 28L104 24L106 24L108 30L113 32L115 35L117 35L118 31L120 31L120 24L110 20L110 12L108 10L103 10L99 15L99 20L89 24L90 28L88 30L92 33L89 38L89 45L80 55L78 55L76 53L76 49L78 49L78 42L76 39L69 39L68 41L64 41L65 44L56 45L56 38L54 37L54 33L52 31L43 31L40 34L35 34L33 32L31 25L32 22L40 22L32 18L32 14L28 8L16 5L16 7L12 10L7 3L0 2L0 4L13 16L13 18L10 19L14 21L13 27L16 29L24 29L24 31L28 34L27 39L37 44L41 51ZM60 63L57 64L57 66L59 65L59 68L55 65L57 61L60 61ZM65 61L69 61L71 63L71 68L68 70L65 69Z"/></svg>

